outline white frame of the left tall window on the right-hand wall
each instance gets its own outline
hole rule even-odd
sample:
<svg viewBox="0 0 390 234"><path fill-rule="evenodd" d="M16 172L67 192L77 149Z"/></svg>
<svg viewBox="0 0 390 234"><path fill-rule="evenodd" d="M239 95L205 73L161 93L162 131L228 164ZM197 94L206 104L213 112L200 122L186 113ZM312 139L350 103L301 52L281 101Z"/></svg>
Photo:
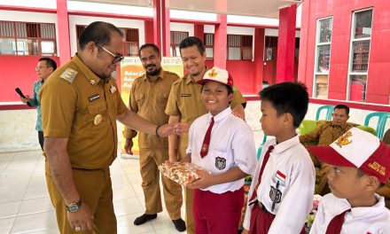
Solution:
<svg viewBox="0 0 390 234"><path fill-rule="evenodd" d="M327 80L328 80L328 88L326 90L326 98L329 97L329 74L330 74L330 71L331 71L331 40L330 42L326 42L326 43L319 43L320 41L320 30L321 30L321 25L320 25L320 21L321 20L331 20L331 38L333 36L333 16L328 16L328 17L324 17L324 18L318 18L316 20L316 45L315 45L315 57L314 57L314 71L313 71L313 87L312 87L312 98L318 98L317 95L317 89L316 89L316 76L317 75L327 75ZM319 55L319 47L320 46L324 46L324 45L329 45L329 69L328 71L325 71L325 72L318 72L317 71L317 68L318 68L318 55ZM319 98L319 99L323 99L323 98Z"/></svg>

